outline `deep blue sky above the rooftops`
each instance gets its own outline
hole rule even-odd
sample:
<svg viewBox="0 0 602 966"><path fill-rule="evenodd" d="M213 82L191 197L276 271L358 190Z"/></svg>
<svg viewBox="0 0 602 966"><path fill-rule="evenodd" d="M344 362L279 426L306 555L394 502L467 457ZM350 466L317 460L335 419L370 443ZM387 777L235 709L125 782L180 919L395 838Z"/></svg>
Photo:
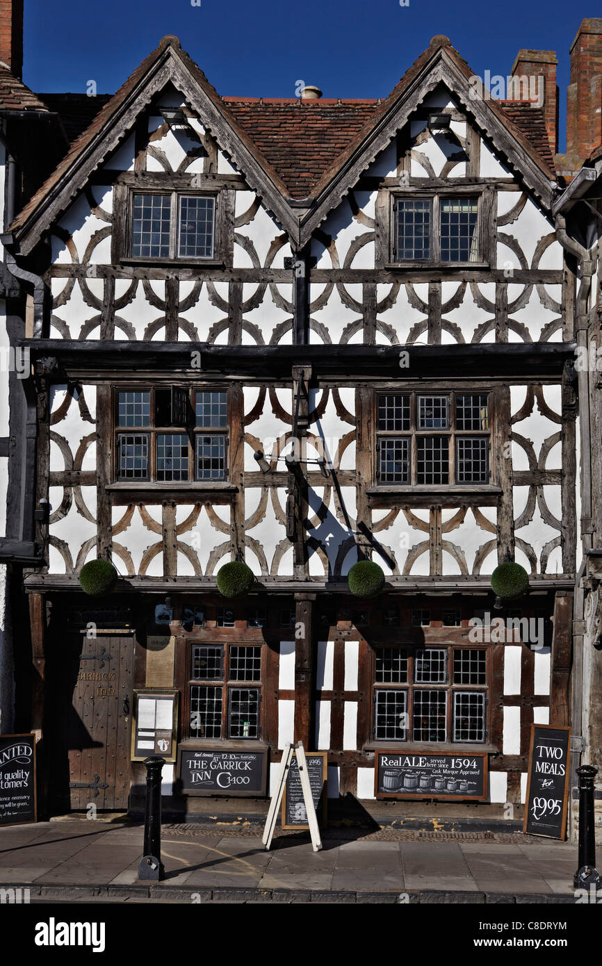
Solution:
<svg viewBox="0 0 602 966"><path fill-rule="evenodd" d="M198 0L194 0L198 2ZM222 95L384 97L434 34L473 71L509 73L521 47L559 57L560 150L568 50L596 5L476 5L473 0L25 0L23 79L34 91L113 93L164 34L176 34ZM475 13L476 12L476 13Z"/></svg>

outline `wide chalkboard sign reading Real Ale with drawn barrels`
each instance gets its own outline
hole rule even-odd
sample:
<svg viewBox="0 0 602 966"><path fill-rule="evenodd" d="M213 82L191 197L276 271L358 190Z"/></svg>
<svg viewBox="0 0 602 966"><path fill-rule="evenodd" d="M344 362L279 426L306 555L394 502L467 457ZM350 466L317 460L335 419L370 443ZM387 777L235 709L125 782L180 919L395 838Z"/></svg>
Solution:
<svg viewBox="0 0 602 966"><path fill-rule="evenodd" d="M375 752L377 798L441 798L485 801L487 754Z"/></svg>

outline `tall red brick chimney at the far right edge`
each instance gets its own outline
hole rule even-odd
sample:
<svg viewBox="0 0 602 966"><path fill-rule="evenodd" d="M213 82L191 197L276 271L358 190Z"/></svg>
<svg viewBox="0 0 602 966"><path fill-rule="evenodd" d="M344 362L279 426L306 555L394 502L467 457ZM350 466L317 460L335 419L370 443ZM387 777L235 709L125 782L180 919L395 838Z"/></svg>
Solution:
<svg viewBox="0 0 602 966"><path fill-rule="evenodd" d="M602 144L602 17L582 20L570 53L566 154L579 164Z"/></svg>

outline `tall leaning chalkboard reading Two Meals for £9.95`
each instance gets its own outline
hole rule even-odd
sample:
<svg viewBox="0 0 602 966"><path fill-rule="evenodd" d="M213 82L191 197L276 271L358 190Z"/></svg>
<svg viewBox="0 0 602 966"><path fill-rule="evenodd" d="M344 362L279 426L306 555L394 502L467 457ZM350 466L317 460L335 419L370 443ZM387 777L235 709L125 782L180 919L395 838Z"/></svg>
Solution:
<svg viewBox="0 0 602 966"><path fill-rule="evenodd" d="M571 729L531 725L523 832L566 838Z"/></svg>

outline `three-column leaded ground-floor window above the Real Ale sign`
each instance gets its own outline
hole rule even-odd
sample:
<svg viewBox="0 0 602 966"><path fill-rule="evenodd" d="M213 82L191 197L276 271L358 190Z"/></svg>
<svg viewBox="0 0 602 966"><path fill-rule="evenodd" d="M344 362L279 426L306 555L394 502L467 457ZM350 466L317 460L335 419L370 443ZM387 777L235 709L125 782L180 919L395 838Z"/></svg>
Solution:
<svg viewBox="0 0 602 966"><path fill-rule="evenodd" d="M377 741L482 743L487 734L487 651L377 647Z"/></svg>

